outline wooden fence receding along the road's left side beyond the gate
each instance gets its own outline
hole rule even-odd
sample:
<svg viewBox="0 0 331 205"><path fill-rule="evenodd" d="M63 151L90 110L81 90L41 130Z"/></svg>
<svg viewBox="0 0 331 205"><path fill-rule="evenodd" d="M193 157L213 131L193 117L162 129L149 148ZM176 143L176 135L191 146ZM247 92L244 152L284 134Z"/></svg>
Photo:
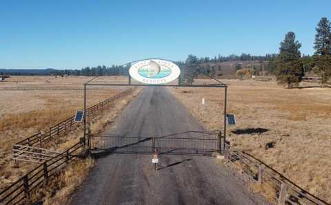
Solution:
<svg viewBox="0 0 331 205"><path fill-rule="evenodd" d="M126 89L125 91L122 91L119 94L116 94L112 96L111 98L108 98L107 100L103 100L102 102L99 102L97 105L93 105L91 107L88 107L86 110L86 116L92 116L92 114L95 114L97 111L101 109L105 109L109 105L111 105L114 100L117 100L119 98L122 98L123 96L127 96L128 94L132 93L132 88ZM24 140L21 140L13 145L12 153L14 155L14 158L17 158L17 153L24 153L23 151L26 150L26 147L22 146L28 146L28 147L43 147L43 143L47 140L51 140L54 136L59 135L59 133L65 132L70 127L78 126L79 122L74 122L74 116L63 120L62 122L57 123L57 125L54 125L50 127L50 129L46 133L36 133L33 136L30 136L28 138L25 138ZM16 160L19 160L17 158Z"/></svg>

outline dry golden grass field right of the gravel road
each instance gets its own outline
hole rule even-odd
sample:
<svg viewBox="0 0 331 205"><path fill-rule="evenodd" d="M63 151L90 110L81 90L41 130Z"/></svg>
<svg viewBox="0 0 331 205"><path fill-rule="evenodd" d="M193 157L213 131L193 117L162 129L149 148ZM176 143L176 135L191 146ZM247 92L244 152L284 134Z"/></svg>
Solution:
<svg viewBox="0 0 331 205"><path fill-rule="evenodd" d="M210 83L197 80L197 83ZM269 164L310 193L331 202L331 89L301 83L284 89L274 81L223 80L228 87L228 127L234 149ZM223 89L171 88L210 130L223 127ZM201 99L205 98L205 106ZM223 131L223 130L222 130ZM265 147L272 142L274 147Z"/></svg>

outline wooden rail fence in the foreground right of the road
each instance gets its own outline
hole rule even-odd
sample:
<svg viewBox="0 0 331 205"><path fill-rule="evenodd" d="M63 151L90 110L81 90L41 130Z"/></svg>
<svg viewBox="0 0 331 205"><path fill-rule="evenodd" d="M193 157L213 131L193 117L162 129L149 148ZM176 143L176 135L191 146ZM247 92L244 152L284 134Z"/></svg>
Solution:
<svg viewBox="0 0 331 205"><path fill-rule="evenodd" d="M249 180L257 182L261 186L265 184L271 186L269 188L272 189L274 202L278 204L328 204L323 199L303 190L261 160L248 153L230 149L230 143L225 143L224 156L225 160L240 169L241 173Z"/></svg>

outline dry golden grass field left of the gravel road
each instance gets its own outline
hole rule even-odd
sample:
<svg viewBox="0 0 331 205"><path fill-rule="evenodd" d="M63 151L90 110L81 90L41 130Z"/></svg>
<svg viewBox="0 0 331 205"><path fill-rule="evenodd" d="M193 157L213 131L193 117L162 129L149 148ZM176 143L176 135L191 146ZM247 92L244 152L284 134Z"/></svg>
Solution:
<svg viewBox="0 0 331 205"><path fill-rule="evenodd" d="M88 77L54 76L13 76L0 83L0 188L7 186L36 164L12 160L12 144L32 136L39 131L47 131L57 122L73 116L83 109L83 83ZM95 83L123 83L124 77L100 77ZM126 89L125 87L92 87L87 91L88 106L95 105ZM119 112L137 95L134 91L128 97L119 99L107 111L93 120L92 130L98 131L114 121ZM102 123L101 123L102 122ZM54 150L64 150L78 142L83 131L72 130L65 138L49 144Z"/></svg>

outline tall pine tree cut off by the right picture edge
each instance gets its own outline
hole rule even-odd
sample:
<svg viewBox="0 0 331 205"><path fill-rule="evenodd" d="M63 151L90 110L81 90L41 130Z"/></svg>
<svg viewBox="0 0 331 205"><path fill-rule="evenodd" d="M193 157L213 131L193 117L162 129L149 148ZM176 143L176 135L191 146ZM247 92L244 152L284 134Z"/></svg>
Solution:
<svg viewBox="0 0 331 205"><path fill-rule="evenodd" d="M331 77L331 23L322 18L316 28L314 42L314 72L321 76L321 86L324 87Z"/></svg>

